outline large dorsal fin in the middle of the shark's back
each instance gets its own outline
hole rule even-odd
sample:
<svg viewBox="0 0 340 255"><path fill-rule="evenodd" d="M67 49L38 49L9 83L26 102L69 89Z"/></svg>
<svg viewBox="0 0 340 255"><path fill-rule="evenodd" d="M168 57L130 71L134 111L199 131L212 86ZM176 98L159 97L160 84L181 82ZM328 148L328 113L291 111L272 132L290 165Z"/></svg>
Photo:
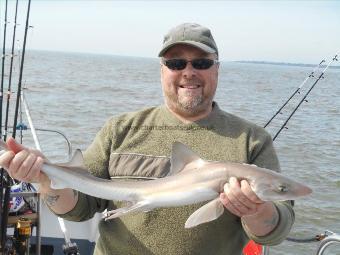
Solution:
<svg viewBox="0 0 340 255"><path fill-rule="evenodd" d="M195 152L190 150L183 143L174 142L172 144L172 152L170 158L171 169L169 175L179 173L187 164L194 161L204 162Z"/></svg>

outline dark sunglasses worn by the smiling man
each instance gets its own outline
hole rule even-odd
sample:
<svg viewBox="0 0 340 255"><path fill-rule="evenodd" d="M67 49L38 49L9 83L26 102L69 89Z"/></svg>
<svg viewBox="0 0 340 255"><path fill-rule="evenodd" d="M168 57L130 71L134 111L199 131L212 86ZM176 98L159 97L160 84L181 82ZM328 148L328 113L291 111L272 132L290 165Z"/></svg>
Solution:
<svg viewBox="0 0 340 255"><path fill-rule="evenodd" d="M197 70L207 70L214 64L217 64L218 60L209 58L197 58L193 60L186 60L182 58L161 59L161 63L171 70L183 70L189 62L192 67Z"/></svg>

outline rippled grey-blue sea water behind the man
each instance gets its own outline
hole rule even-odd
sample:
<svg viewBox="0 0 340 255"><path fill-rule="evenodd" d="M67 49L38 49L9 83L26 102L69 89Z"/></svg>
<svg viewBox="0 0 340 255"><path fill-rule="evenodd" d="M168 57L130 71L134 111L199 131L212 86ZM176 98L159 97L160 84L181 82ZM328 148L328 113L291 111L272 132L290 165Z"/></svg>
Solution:
<svg viewBox="0 0 340 255"><path fill-rule="evenodd" d="M264 126L312 69L222 61L215 100L223 110ZM290 233L295 238L340 233L340 69L328 69L324 76L274 142L283 174L314 190L295 203ZM156 58L28 51L23 77L35 127L61 131L82 150L111 116L163 103ZM305 84L268 132L275 135L314 81ZM51 160L66 160L62 136L46 131L38 136ZM29 132L23 139L33 146ZM310 255L316 247L285 241L270 254ZM327 254L340 254L340 244Z"/></svg>

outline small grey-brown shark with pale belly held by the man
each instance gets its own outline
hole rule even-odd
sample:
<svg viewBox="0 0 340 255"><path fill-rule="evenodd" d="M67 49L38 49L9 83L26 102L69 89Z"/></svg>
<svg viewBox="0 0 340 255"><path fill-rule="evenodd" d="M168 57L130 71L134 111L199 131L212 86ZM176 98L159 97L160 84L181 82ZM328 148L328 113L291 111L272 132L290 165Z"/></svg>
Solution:
<svg viewBox="0 0 340 255"><path fill-rule="evenodd" d="M8 150L3 141L0 147ZM172 145L170 163L168 175L162 178L108 180L93 176L84 167L81 151L76 150L69 162L47 161L41 170L51 180L53 189L70 188L102 199L127 202L124 207L106 211L105 220L155 208L207 202L189 216L185 228L213 221L224 213L219 194L230 177L247 180L262 201L295 200L312 193L308 186L273 170L252 164L204 160L180 142Z"/></svg>

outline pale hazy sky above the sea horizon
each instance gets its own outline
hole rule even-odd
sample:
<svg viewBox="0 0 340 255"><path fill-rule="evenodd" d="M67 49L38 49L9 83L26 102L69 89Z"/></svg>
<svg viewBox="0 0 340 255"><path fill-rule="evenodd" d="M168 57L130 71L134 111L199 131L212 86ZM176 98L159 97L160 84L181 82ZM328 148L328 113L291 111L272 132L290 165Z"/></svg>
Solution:
<svg viewBox="0 0 340 255"><path fill-rule="evenodd" d="M1 37L4 7L1 0ZM27 0L20 0L18 35L26 9ZM9 0L7 45L14 10ZM274 0L32 0L27 48L157 57L163 36L183 22L209 27L224 61L317 64L340 51L340 1Z"/></svg>

